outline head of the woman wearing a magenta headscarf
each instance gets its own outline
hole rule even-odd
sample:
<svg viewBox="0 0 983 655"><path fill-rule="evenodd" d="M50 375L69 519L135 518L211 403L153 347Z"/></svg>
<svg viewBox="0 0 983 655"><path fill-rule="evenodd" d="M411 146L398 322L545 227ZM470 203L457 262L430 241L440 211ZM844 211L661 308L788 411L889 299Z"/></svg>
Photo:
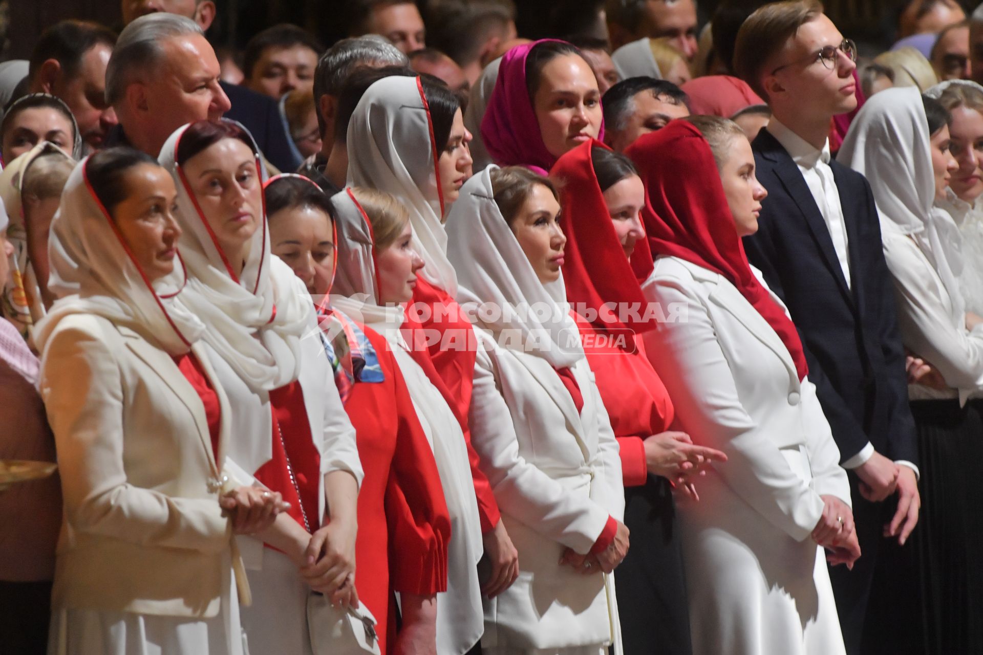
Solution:
<svg viewBox="0 0 983 655"><path fill-rule="evenodd" d="M576 47L542 39L505 53L482 120L494 163L546 175L562 154L603 137L601 91Z"/></svg>

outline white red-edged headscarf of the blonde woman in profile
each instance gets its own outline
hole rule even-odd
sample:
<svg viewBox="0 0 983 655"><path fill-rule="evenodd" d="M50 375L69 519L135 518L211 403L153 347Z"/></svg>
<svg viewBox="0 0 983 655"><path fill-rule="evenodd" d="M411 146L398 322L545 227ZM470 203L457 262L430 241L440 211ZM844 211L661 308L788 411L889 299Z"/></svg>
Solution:
<svg viewBox="0 0 983 655"><path fill-rule="evenodd" d="M353 320L372 325L389 341L398 339L405 319L402 305L378 302L378 269L372 223L350 189L331 196L338 234L331 306Z"/></svg>

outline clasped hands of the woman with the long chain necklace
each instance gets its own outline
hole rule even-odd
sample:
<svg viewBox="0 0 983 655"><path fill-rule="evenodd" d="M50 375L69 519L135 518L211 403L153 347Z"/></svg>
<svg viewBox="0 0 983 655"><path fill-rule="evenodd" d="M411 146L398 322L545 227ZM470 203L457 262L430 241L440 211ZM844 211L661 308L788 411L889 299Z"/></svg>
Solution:
<svg viewBox="0 0 983 655"><path fill-rule="evenodd" d="M304 553L301 575L315 591L328 596L334 605L357 605L355 590L355 535L352 521L335 519L313 535Z"/></svg>

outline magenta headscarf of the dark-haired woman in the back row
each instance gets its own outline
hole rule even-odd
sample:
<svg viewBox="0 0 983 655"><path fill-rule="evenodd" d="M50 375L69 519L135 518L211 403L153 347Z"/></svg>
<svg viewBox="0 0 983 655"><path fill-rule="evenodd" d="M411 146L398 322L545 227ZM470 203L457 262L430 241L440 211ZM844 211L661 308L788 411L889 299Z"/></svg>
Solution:
<svg viewBox="0 0 983 655"><path fill-rule="evenodd" d="M501 58L498 80L482 119L482 139L492 160L499 166L525 166L541 175L549 175L549 169L556 163L556 157L549 153L543 142L533 101L526 89L526 58L537 45L549 41L565 42L543 38L517 45ZM598 140L603 140L604 136L602 122Z"/></svg>

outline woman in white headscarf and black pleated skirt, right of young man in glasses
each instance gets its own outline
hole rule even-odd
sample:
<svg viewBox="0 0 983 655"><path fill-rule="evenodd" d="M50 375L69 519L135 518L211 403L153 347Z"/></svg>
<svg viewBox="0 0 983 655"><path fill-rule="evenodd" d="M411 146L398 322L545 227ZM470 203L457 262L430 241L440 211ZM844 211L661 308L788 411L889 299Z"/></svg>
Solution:
<svg viewBox="0 0 983 655"><path fill-rule="evenodd" d="M959 291L958 228L933 206L957 167L949 118L916 89L882 91L857 114L838 160L871 182L901 339L933 369L909 366L922 508L912 548L888 553L893 575L912 587L911 616L900 609L898 621L924 626L925 652L970 653L983 646L983 318Z"/></svg>

